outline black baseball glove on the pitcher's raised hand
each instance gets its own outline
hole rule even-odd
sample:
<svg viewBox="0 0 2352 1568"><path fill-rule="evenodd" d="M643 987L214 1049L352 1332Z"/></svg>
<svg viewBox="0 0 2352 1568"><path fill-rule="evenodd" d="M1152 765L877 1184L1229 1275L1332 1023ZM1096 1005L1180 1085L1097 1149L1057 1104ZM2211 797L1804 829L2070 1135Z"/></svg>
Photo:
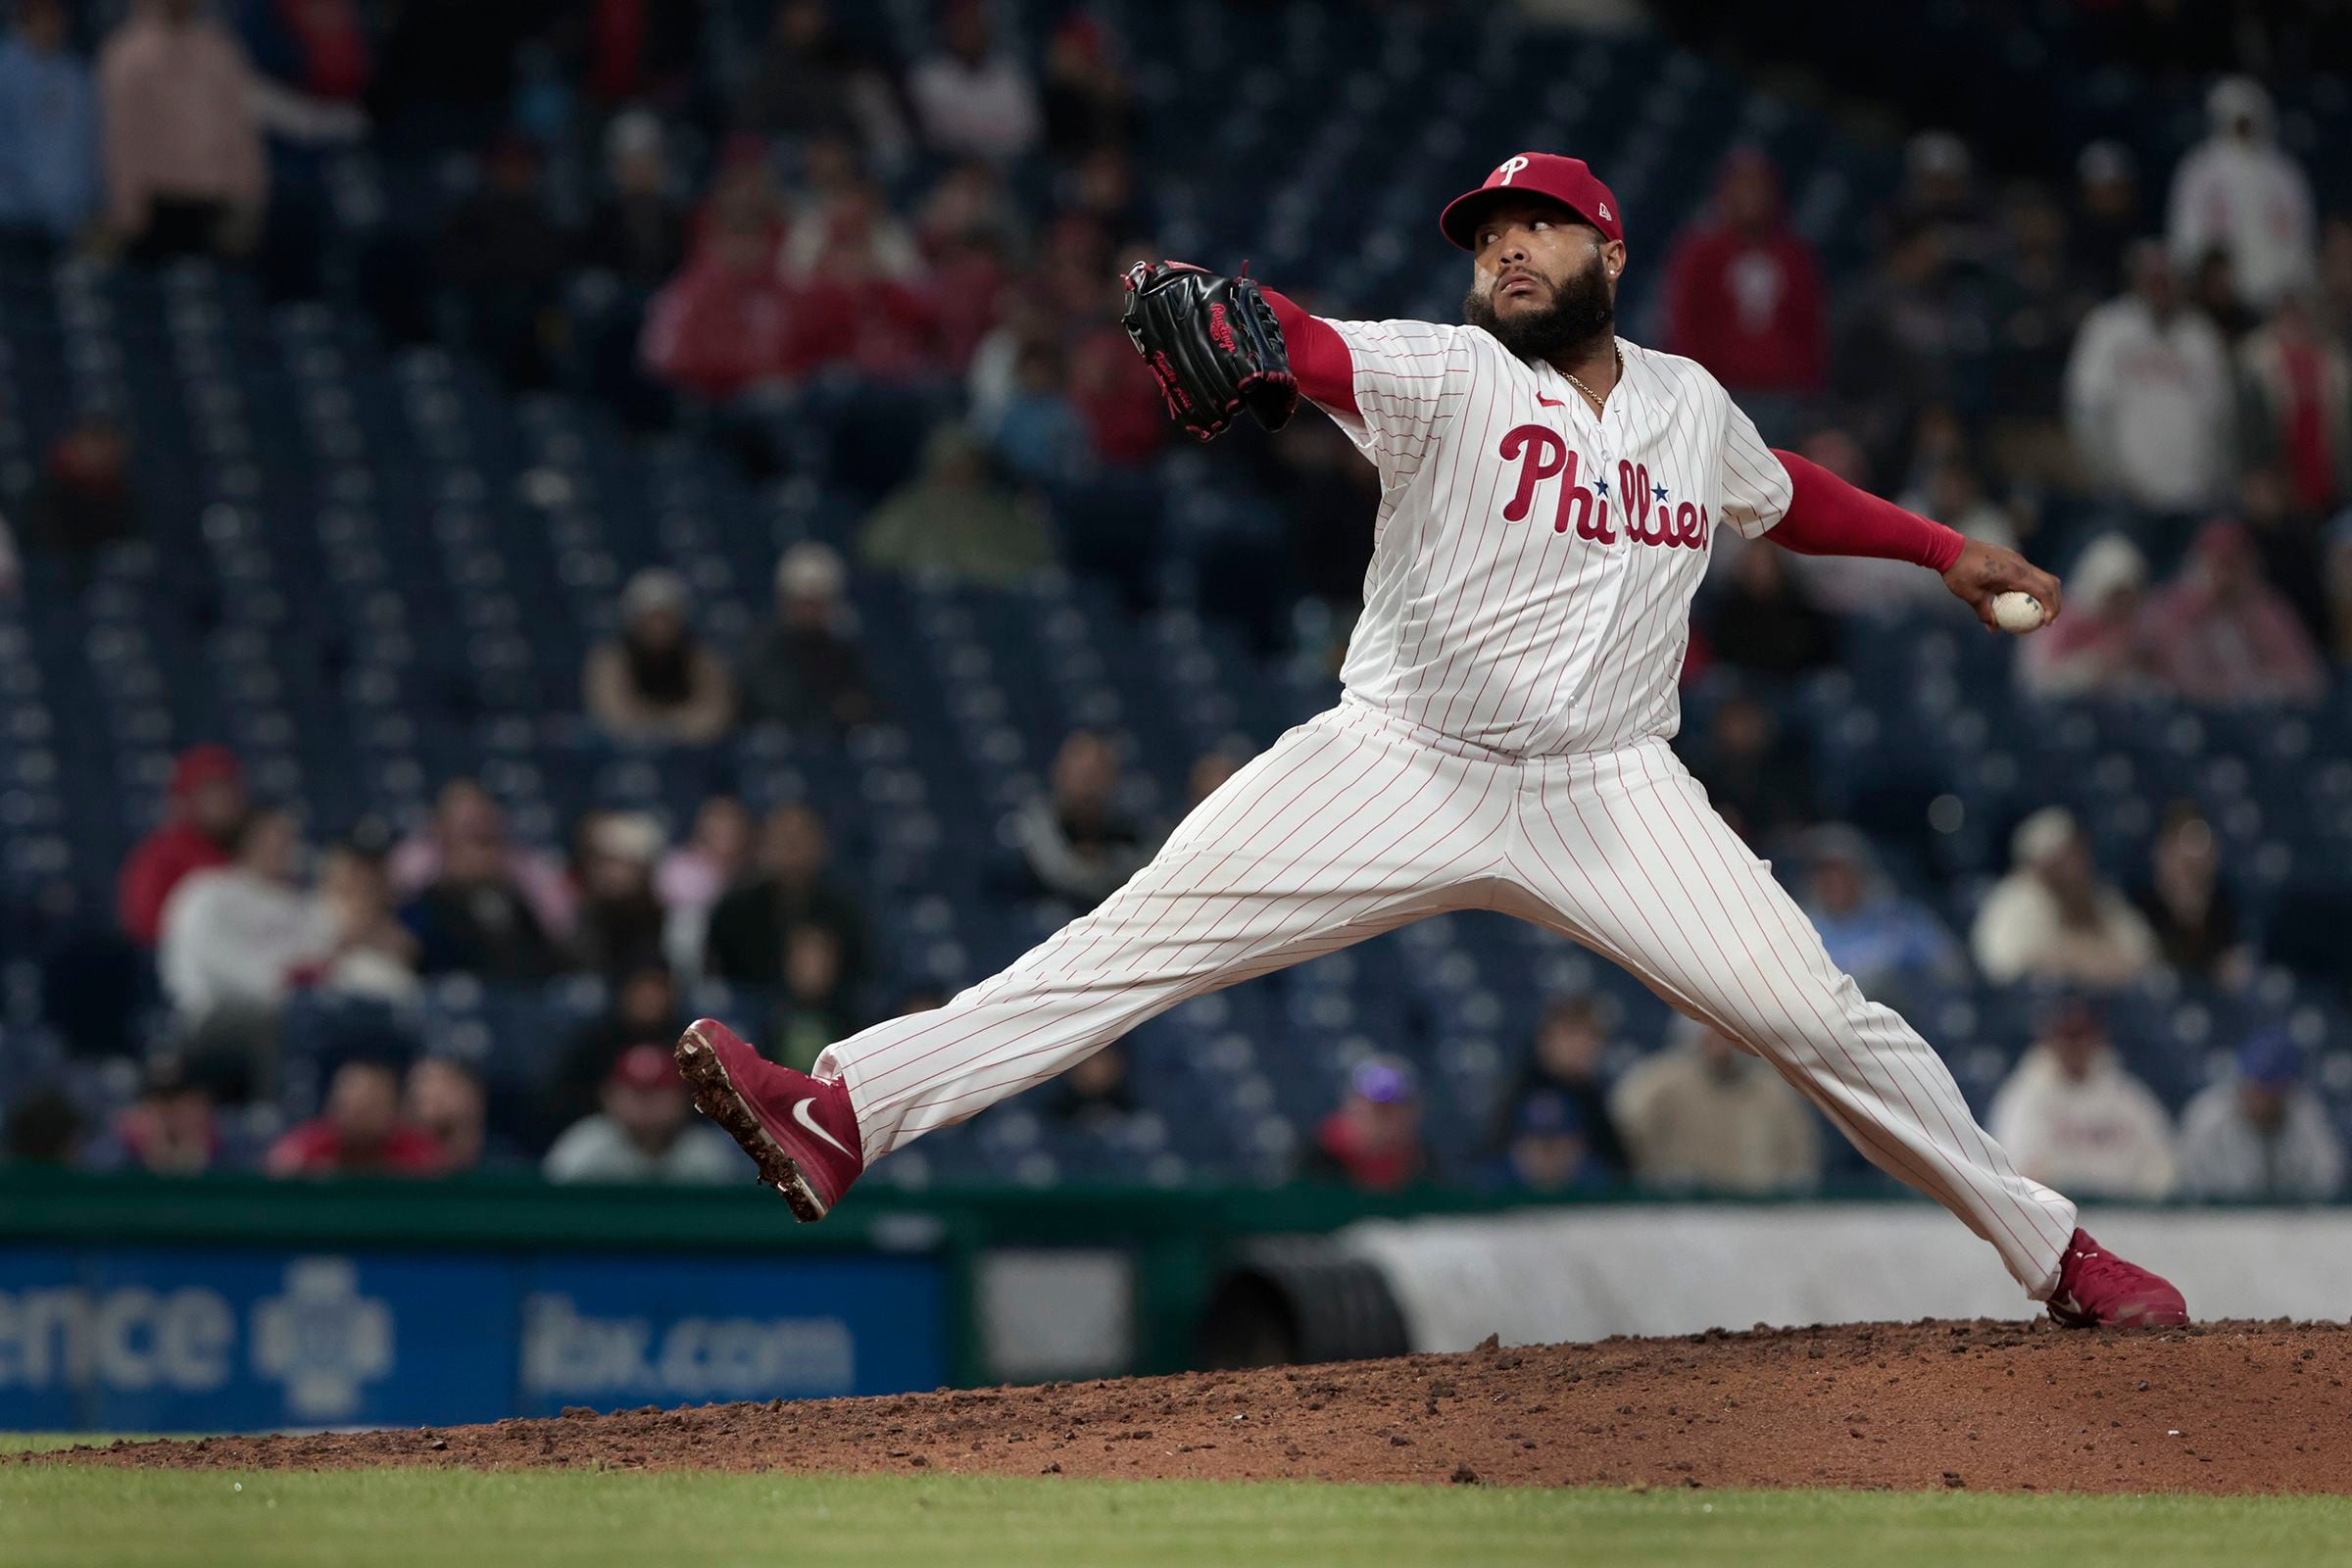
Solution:
<svg viewBox="0 0 2352 1568"><path fill-rule="evenodd" d="M1232 423L1235 409L1249 409L1268 430L1298 409L1282 324L1247 277L1138 261L1127 270L1120 324L1160 378L1169 416L1204 442Z"/></svg>

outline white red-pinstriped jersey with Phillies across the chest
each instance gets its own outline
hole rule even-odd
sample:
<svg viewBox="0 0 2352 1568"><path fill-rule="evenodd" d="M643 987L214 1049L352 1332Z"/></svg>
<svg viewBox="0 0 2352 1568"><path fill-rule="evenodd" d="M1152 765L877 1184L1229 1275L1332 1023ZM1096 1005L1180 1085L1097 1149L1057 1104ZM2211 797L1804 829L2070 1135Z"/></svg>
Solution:
<svg viewBox="0 0 2352 1568"><path fill-rule="evenodd" d="M1331 327L1355 409L1327 411L1381 470L1348 696L1522 757L1672 736L1715 527L1755 538L1790 501L1722 383L1618 339L1595 416L1479 327Z"/></svg>

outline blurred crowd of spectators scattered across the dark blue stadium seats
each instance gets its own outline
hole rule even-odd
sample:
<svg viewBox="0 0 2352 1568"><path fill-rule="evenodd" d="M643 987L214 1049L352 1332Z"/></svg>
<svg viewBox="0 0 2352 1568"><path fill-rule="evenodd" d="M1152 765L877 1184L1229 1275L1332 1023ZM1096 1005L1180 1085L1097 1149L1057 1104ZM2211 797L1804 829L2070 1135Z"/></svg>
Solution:
<svg viewBox="0 0 2352 1568"><path fill-rule="evenodd" d="M1131 609L1157 599L1169 423L1115 324L1120 266L1152 254L1143 108L1131 56L1084 5L1016 49L990 7L953 0L924 54L891 59L844 26L849 7L781 0L755 56L727 68L703 59L691 0L489 9L416 2L386 21L355 0L134 0L92 38L61 0L16 0L0 242L132 266L212 256L282 299L339 287L388 341L454 343L515 390L581 376L630 430L684 430L755 477L830 442L863 505L856 548L788 548L748 639L713 642L675 571L626 581L579 710L628 745L708 748L760 724L837 743L884 719L851 571L1004 585L1061 564ZM1773 162L1738 148L1705 214L1658 237L1653 306L1628 331L1708 364L1773 440L2063 571L2065 618L2013 661L2025 693L2314 703L2352 658L2352 214L2319 209L2253 80L2213 85L2209 115L2176 169L2100 141L2058 172L1992 172L1924 129L1858 277L1828 275ZM336 249L322 158L358 141L456 153L470 176L428 228ZM560 167L590 188L562 193ZM24 550L87 559L136 531L125 440L92 411L56 442ZM1312 418L1279 442L1237 437L1230 458L1296 527L1275 548L1228 541L1240 555L1202 562L1197 604L1265 651L1327 661L1287 646L1291 607L1329 607L1317 635L1345 637L1376 480ZM0 592L7 578L0 536ZM1705 722L1679 741L1712 802L1790 856L1867 994L1900 1004L1971 976L2065 987L1992 1107L2030 1175L2084 1197L2336 1192L2343 1150L2291 1039L2237 1041L2232 1074L2176 1126L2105 1034L2100 997L2150 971L2244 985L2258 966L2194 809L2173 809L2136 867L2098 865L2063 809L2027 816L1964 938L1828 820L1816 759L1771 696L1837 665L1856 618L1933 614L1952 609L1929 574L1726 543L1686 661ZM1016 896L1080 912L1141 865L1169 823L1120 809L1120 766L1112 736L1068 736L1004 825ZM1202 755L1192 799L1235 766ZM715 795L675 842L661 820L597 811L557 853L452 778L414 832L336 825L313 867L296 802L254 799L238 759L202 745L160 823L122 867L118 924L153 954L172 1046L113 1126L16 1100L16 1154L734 1180L661 1051L684 985L771 997L762 1044L800 1067L936 1001L931 978L884 971L877 912L833 872L807 804L762 820ZM612 1004L506 1124L461 1063L367 1058L334 1072L315 1119L240 1145L230 1112L273 1093L292 994L397 1001L454 973L586 973ZM1073 1124L1134 1112L1117 1051L1049 1093ZM1543 1016L1477 1168L1432 1164L1421 1093L1411 1063L1362 1063L1305 1168L1364 1190L1444 1175L1524 1192L1780 1192L1823 1168L1825 1128L1762 1060L1696 1023L1611 1039L1592 997Z"/></svg>

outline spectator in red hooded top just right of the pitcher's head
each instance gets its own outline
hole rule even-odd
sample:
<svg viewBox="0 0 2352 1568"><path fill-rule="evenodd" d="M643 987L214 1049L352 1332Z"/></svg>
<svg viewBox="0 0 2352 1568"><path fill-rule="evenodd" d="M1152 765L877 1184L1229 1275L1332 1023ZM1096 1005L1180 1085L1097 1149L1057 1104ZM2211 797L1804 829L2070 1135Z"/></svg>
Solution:
<svg viewBox="0 0 2352 1568"><path fill-rule="evenodd" d="M1820 270L1780 212L1780 176L1764 153L1738 148L1724 160L1712 212L1675 247L1665 336L1733 397L1820 390Z"/></svg>

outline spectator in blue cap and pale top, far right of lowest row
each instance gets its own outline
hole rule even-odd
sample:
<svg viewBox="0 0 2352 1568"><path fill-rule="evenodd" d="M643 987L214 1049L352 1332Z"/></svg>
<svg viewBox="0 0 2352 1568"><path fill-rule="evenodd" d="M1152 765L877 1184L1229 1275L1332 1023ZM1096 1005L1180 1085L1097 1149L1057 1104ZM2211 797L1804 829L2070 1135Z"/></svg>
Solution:
<svg viewBox="0 0 2352 1568"><path fill-rule="evenodd" d="M2319 1095L2303 1086L2303 1048L2263 1030L2237 1051L2237 1074L2180 1112L2180 1190L2190 1197L2314 1204L2345 1180L2345 1150Z"/></svg>

